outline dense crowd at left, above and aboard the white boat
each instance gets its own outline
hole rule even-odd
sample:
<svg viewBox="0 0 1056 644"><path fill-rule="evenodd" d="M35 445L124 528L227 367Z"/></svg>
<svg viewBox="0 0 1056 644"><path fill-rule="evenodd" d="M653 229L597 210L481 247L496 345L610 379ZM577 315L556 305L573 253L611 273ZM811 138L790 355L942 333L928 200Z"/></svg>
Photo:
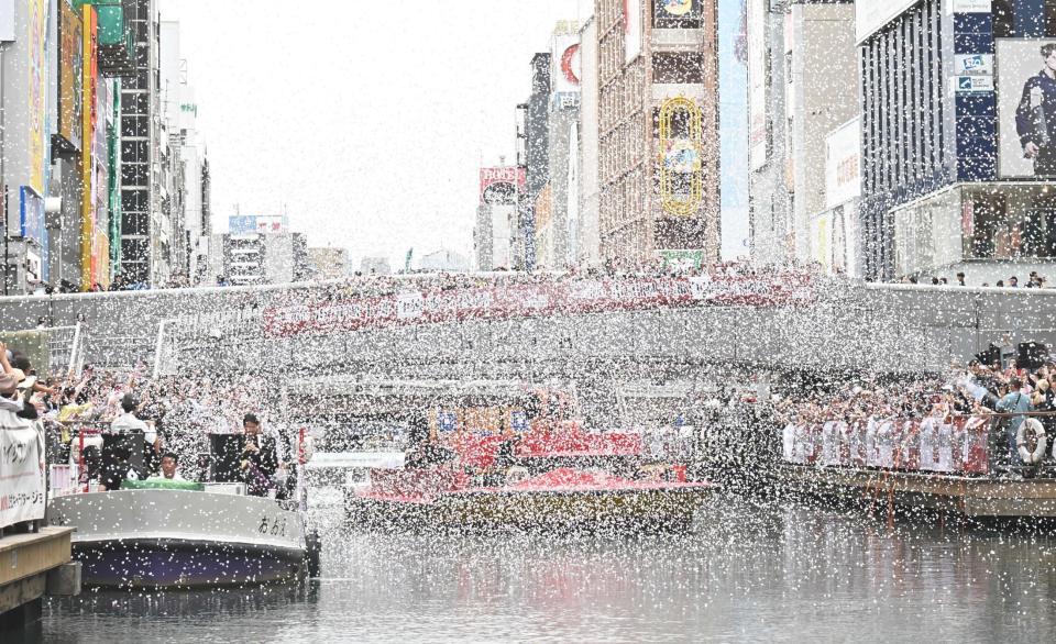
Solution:
<svg viewBox="0 0 1056 644"><path fill-rule="evenodd" d="M32 373L24 356L13 356ZM100 490L127 479L202 480L210 455L218 480L244 482L257 496L288 491L293 443L261 411L268 400L261 378L188 371L153 379L142 367L119 375L85 366L79 376L25 381L23 413L41 422L50 460L80 465L84 482Z"/></svg>

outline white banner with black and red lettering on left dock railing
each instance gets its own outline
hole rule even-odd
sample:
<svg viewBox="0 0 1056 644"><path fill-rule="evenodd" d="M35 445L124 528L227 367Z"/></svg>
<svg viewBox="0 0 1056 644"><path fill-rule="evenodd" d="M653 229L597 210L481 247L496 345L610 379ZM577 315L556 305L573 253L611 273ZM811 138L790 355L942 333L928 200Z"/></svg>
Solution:
<svg viewBox="0 0 1056 644"><path fill-rule="evenodd" d="M44 436L36 428L0 429L0 529L44 519Z"/></svg>

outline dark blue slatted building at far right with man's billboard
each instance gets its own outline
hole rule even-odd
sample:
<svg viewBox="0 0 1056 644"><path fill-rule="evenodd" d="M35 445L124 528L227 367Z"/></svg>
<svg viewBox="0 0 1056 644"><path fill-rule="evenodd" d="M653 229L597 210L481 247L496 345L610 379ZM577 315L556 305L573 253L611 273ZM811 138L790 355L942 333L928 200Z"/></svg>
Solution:
<svg viewBox="0 0 1056 644"><path fill-rule="evenodd" d="M1050 274L1056 5L860 0L856 10L867 275Z"/></svg>

